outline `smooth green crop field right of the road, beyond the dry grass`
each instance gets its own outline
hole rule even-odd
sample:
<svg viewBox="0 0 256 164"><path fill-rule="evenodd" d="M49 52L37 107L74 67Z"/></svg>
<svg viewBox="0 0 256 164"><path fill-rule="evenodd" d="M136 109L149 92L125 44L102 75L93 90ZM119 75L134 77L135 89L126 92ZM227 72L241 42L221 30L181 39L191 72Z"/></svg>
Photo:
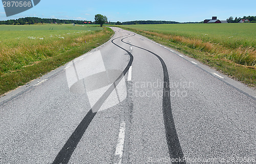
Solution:
<svg viewBox="0 0 256 164"><path fill-rule="evenodd" d="M256 24L170 24L170 25L123 25L136 30L152 31L201 39L229 48L256 46Z"/></svg>

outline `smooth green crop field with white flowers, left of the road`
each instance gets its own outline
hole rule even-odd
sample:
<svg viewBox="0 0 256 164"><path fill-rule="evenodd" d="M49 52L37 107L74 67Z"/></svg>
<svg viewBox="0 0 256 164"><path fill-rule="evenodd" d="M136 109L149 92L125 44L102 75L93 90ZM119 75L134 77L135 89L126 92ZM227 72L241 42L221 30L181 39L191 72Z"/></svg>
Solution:
<svg viewBox="0 0 256 164"><path fill-rule="evenodd" d="M0 42L3 44L16 45L16 42L27 40L40 40L41 38L49 39L54 36L64 37L69 34L77 34L78 32L88 32L102 30L95 26L73 26L73 25L0 25ZM34 39L33 39L34 38ZM52 39L52 38L51 38Z"/></svg>

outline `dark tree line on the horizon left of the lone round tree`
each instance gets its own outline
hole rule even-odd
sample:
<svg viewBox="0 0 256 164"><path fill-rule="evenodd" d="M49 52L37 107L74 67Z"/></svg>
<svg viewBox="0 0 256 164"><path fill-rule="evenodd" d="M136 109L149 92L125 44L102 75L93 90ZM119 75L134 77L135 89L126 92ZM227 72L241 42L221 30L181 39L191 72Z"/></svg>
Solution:
<svg viewBox="0 0 256 164"><path fill-rule="evenodd" d="M90 23L89 23L90 22ZM68 20L55 18L25 17L19 19L0 20L0 25L32 25L32 24L94 24L87 20Z"/></svg>

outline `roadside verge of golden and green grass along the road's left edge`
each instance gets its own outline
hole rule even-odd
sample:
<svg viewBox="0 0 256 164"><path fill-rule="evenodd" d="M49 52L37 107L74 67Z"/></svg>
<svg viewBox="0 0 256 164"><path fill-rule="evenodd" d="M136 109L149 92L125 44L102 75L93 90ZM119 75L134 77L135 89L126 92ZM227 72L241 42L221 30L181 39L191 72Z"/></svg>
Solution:
<svg viewBox="0 0 256 164"><path fill-rule="evenodd" d="M87 53L88 51L96 48L99 44L103 44L108 41L113 34L114 32L110 28L104 28L104 30L100 31L75 34L65 39L48 40L47 42L35 40L35 43L32 43L33 45L36 45L35 48L33 45L30 47L34 52L27 54L16 53L17 49L23 50L23 47L20 48L20 46L28 45L26 43L19 44L18 46L6 46L6 48L9 47L10 50L13 50L13 54L2 54L2 56L0 56L0 62L2 62L0 65L2 66L2 69L0 69L0 95L49 73L53 69L64 65L84 53ZM51 50L51 53L45 53L45 50L40 49L39 51L37 49L38 46L42 46L42 49L44 49L45 46L48 47L49 44L55 45L55 50L49 49ZM28 49L28 51L30 51L30 49ZM15 57L15 55L19 56L18 58L20 58L20 60L17 61L17 57ZM38 55L41 57L38 57ZM13 64L16 62L18 62L19 66L11 68L5 67L6 69L3 69L3 65L8 65L10 63Z"/></svg>

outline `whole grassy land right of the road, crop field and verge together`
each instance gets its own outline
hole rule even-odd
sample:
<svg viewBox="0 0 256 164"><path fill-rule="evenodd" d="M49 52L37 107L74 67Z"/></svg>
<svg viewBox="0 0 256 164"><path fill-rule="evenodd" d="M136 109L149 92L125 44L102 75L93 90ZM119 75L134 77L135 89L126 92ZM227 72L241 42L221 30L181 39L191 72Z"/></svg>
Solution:
<svg viewBox="0 0 256 164"><path fill-rule="evenodd" d="M256 86L256 24L123 25Z"/></svg>

